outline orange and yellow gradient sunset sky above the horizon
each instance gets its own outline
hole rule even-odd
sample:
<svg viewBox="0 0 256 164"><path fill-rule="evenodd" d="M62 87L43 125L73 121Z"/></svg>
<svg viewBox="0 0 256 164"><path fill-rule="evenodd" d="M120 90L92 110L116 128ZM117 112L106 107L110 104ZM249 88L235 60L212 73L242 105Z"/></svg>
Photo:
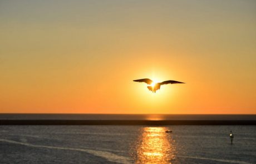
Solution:
<svg viewBox="0 0 256 164"><path fill-rule="evenodd" d="M256 1L8 0L0 29L0 113L256 114Z"/></svg>

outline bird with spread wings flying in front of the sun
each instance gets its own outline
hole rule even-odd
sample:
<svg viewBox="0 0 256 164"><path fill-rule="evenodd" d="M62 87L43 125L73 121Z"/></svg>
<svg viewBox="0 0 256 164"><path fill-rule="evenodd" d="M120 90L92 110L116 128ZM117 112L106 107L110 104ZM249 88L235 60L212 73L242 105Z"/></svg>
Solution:
<svg viewBox="0 0 256 164"><path fill-rule="evenodd" d="M174 80L163 81L161 83L154 83L149 78L135 79L134 81L135 82L145 82L145 83L147 83L147 85L151 85L151 86L147 86L147 88L149 89L149 91L152 91L153 93L155 93L157 90L160 90L161 85L184 83L184 82L179 82L179 81L174 81Z"/></svg>

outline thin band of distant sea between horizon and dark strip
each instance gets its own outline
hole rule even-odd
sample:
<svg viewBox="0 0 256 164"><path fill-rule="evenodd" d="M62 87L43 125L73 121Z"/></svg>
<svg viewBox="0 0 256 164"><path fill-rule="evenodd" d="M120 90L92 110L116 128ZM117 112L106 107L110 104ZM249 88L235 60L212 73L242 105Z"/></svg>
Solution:
<svg viewBox="0 0 256 164"><path fill-rule="evenodd" d="M255 120L256 115L0 114L0 120Z"/></svg>

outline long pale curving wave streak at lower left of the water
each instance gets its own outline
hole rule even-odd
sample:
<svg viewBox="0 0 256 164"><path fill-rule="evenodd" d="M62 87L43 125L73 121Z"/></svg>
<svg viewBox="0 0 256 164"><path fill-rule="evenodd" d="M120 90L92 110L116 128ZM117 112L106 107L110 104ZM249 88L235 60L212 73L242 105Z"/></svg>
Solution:
<svg viewBox="0 0 256 164"><path fill-rule="evenodd" d="M96 150L89 150L89 149L83 149L83 148L70 148L70 147L56 147L56 146L45 146L45 145L34 145L31 143L24 143L24 142L18 142L13 140L6 140L0 138L0 142L8 142L8 143L14 143L18 145L23 146L30 146L30 147L43 147L43 148L51 148L51 149L58 149L58 150L71 150L71 151L81 151L90 153L93 156L99 156L102 158L105 158L107 161L110 162L118 162L118 163L131 163L130 158L119 156L114 153L106 152L106 151L96 151Z"/></svg>

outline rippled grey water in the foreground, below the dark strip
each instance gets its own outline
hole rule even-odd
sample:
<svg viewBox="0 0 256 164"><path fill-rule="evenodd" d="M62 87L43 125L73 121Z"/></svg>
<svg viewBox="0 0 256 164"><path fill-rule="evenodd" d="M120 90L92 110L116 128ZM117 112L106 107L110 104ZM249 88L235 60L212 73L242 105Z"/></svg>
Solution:
<svg viewBox="0 0 256 164"><path fill-rule="evenodd" d="M256 163L256 126L0 126L0 163Z"/></svg>

